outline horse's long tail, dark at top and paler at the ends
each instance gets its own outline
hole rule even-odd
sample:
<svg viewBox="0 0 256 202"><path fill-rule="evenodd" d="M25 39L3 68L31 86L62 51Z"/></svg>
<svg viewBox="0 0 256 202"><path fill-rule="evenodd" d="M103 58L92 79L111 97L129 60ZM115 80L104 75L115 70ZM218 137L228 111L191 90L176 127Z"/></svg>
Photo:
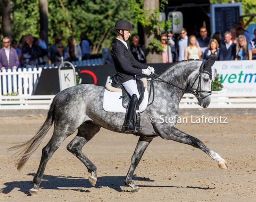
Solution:
<svg viewBox="0 0 256 202"><path fill-rule="evenodd" d="M15 153L15 159L17 160L15 165L17 166L17 170L21 170L24 167L26 162L29 160L29 158L32 156L32 154L36 151L37 147L39 147L39 145L45 138L45 135L47 134L48 130L52 127L52 124L54 122L54 105L56 103L56 99L58 98L58 96L59 93L56 94L56 96L54 97L52 104L50 106L50 110L48 111L45 123L43 123L41 128L38 130L37 134L35 134L35 136L32 139L26 142L18 143L18 145L15 145L7 149L7 151L20 149L20 151L17 151Z"/></svg>

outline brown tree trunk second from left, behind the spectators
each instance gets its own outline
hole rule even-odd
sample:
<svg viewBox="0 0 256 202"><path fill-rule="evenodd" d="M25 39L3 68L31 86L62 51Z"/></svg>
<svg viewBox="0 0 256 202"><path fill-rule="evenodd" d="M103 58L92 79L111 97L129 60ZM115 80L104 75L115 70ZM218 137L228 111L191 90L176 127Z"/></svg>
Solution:
<svg viewBox="0 0 256 202"><path fill-rule="evenodd" d="M40 13L40 31L46 32L46 45L48 46L48 2L47 0L39 0Z"/></svg>

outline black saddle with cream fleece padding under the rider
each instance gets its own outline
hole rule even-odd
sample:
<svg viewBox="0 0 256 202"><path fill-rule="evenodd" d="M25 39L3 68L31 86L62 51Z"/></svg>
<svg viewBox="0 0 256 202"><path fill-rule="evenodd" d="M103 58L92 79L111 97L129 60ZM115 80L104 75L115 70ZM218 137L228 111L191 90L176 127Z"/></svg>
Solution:
<svg viewBox="0 0 256 202"><path fill-rule="evenodd" d="M137 79L136 83L137 83L137 89L140 95L139 101L137 103L137 107L139 107L139 105L143 101L145 89L147 88L147 78L143 77L141 79ZM131 96L126 92L122 84L118 84L117 75L113 75L112 83L106 84L106 88L111 92L122 92L122 96L120 97L122 98L122 106L124 108L127 108Z"/></svg>

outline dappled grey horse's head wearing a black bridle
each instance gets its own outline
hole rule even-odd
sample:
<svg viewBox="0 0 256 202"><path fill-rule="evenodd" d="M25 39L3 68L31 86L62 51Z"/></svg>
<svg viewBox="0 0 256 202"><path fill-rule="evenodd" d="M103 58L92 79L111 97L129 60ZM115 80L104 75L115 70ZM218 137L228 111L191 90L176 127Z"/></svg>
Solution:
<svg viewBox="0 0 256 202"><path fill-rule="evenodd" d="M197 104L203 108L210 105L211 102L211 66L215 60L208 59L203 62L199 68L189 76L188 90L193 92L197 98Z"/></svg>

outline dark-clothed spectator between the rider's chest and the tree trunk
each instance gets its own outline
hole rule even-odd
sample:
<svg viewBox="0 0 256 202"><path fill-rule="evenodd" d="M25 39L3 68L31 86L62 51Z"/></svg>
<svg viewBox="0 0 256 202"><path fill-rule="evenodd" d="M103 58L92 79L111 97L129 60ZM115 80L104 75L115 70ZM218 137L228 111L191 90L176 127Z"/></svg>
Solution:
<svg viewBox="0 0 256 202"><path fill-rule="evenodd" d="M132 55L134 56L136 61L141 63L146 62L146 57L144 51L142 50L141 45L139 44L139 36L135 35L132 37L132 43L130 45Z"/></svg>

